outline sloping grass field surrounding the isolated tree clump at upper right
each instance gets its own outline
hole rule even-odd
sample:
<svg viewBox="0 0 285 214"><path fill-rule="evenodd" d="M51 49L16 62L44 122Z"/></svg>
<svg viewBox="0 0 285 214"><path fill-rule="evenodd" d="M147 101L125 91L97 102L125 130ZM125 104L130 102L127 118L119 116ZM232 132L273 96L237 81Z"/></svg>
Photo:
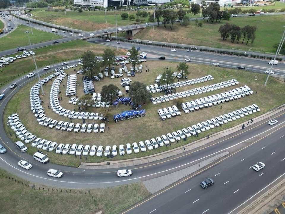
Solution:
<svg viewBox="0 0 285 214"><path fill-rule="evenodd" d="M264 17L232 17L230 21L221 21L221 23L207 23L203 21L203 26L200 28L195 22L190 22L189 26L184 27L180 24L173 25L173 30L165 29L163 25L157 26L153 31L152 28L143 29L137 33L134 38L145 39L153 41L163 41L170 43L202 45L210 47L227 47L237 48L252 51L275 52L273 48L275 43L279 43L283 34L285 15L272 15ZM229 22L240 27L250 25L257 26L256 39L251 45L231 43L223 41L219 34L219 27L221 24ZM272 36L274 35L274 36Z"/></svg>

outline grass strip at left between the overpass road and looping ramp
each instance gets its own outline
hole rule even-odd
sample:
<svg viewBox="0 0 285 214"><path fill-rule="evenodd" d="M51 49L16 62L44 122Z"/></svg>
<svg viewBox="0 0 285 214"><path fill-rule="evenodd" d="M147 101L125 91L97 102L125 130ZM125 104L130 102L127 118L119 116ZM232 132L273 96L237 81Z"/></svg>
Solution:
<svg viewBox="0 0 285 214"><path fill-rule="evenodd" d="M66 43L60 43L44 48L35 49L36 62L38 68L45 67L46 65L67 61L70 59L78 59L82 56L86 50L92 50L98 56L103 54L105 46L97 45L94 43L88 43L82 40L76 40ZM123 54L125 51L118 50L118 54ZM15 54L16 55L16 54ZM15 57L15 55L11 55ZM15 62L10 63L6 67L1 68L3 72L0 72L0 85L5 82L13 81L13 78L23 73L29 73L35 70L32 56L26 59L17 59Z"/></svg>

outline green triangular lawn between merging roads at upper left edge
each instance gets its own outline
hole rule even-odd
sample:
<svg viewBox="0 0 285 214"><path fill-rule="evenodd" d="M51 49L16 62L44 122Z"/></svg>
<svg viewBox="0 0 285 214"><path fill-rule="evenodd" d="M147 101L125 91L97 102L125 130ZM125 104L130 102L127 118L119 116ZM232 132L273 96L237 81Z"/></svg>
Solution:
<svg viewBox="0 0 285 214"><path fill-rule="evenodd" d="M31 28L29 28L28 26L18 25L17 29L9 33L9 35L0 38L0 51L17 48L19 46L29 45L29 39L27 34L25 33L26 31L29 31L29 36L32 44L62 38L61 36L58 36L56 34L47 33L37 29L32 30L33 34L31 34Z"/></svg>

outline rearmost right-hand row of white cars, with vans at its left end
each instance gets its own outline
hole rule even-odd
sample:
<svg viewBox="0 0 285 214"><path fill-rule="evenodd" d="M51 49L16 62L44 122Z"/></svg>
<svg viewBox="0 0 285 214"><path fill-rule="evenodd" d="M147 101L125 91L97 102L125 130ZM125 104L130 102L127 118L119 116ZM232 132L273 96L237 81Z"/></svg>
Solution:
<svg viewBox="0 0 285 214"><path fill-rule="evenodd" d="M177 76L177 74L175 75L175 77ZM174 77L174 78L175 78ZM158 75L158 77L156 78L155 82L159 83L160 79L162 78L162 75ZM207 75L207 76L203 76L203 77L199 77L196 79L191 79L191 80L185 80L185 81L181 81L181 82L177 82L177 83L171 83L168 85L168 89L172 90L175 88L179 88L179 87L183 87L183 86L189 86L189 85L194 85L197 83L202 83L202 82L206 82L206 81L210 81L213 80L213 76L211 75ZM158 84L154 84L154 85L150 85L150 86L146 86L146 89L148 90L148 92L152 92L152 93L156 93L156 92L164 92L164 90L166 89L166 85L158 85Z"/></svg>

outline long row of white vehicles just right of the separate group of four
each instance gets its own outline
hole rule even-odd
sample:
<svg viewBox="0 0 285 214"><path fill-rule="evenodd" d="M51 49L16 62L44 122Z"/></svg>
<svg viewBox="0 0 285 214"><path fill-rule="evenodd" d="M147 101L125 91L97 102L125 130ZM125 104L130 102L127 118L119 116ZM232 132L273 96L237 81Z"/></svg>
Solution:
<svg viewBox="0 0 285 214"><path fill-rule="evenodd" d="M203 109L204 107L216 106L217 104L237 100L238 98L245 97L246 95L250 94L253 94L253 91L245 85L240 88L232 89L229 92L191 100L190 102L186 103L181 103L181 108L187 114L190 111L192 112L195 110Z"/></svg>

